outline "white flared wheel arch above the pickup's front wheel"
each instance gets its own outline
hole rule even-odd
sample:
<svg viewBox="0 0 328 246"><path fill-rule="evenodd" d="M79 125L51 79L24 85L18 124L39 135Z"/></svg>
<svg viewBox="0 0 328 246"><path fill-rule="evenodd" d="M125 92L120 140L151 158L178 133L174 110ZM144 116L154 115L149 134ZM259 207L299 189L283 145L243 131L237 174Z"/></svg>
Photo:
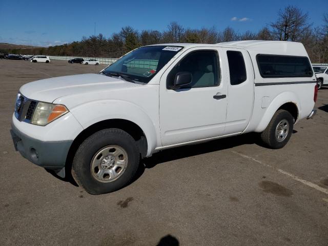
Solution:
<svg viewBox="0 0 328 246"><path fill-rule="evenodd" d="M148 143L147 156L150 156L156 148L155 122L141 107L129 101L117 99L97 100L74 107L70 112L84 129L107 119L132 121L145 133Z"/></svg>

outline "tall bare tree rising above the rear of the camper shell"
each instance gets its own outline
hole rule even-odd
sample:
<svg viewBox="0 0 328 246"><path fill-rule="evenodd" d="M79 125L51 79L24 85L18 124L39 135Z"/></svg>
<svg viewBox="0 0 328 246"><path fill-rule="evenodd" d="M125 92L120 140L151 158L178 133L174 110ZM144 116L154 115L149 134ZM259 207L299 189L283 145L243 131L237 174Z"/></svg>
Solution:
<svg viewBox="0 0 328 246"><path fill-rule="evenodd" d="M284 10L279 10L278 19L270 24L272 35L283 41L298 41L303 33L310 29L308 24L308 13L303 13L301 9L288 6Z"/></svg>

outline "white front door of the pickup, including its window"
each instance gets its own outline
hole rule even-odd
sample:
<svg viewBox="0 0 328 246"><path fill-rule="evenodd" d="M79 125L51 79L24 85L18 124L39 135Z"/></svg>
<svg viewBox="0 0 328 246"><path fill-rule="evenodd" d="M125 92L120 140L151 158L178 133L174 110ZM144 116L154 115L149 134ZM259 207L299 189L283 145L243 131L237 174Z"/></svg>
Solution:
<svg viewBox="0 0 328 246"><path fill-rule="evenodd" d="M162 146L223 135L228 95L221 63L219 48L192 48L163 73L159 89ZM178 72L190 72L192 83L171 89Z"/></svg>

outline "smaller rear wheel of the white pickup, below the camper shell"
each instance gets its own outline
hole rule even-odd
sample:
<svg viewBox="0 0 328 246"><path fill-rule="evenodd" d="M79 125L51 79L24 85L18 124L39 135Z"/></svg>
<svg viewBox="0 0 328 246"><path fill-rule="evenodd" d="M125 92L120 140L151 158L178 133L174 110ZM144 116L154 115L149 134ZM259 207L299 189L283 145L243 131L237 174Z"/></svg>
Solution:
<svg viewBox="0 0 328 246"><path fill-rule="evenodd" d="M293 127L294 119L291 113L279 109L273 115L268 127L261 133L261 139L269 148L281 149L291 138ZM279 131L279 129L281 130Z"/></svg>

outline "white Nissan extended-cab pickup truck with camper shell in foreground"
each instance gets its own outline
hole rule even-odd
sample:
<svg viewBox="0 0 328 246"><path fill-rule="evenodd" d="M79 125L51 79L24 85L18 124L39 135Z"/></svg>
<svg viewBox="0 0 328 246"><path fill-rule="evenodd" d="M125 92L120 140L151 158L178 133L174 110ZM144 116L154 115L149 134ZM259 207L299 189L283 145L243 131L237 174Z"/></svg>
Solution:
<svg viewBox="0 0 328 246"><path fill-rule="evenodd" d="M12 116L16 150L91 194L126 186L140 158L258 132L282 148L316 110L316 77L300 43L162 44L99 74L22 86Z"/></svg>

